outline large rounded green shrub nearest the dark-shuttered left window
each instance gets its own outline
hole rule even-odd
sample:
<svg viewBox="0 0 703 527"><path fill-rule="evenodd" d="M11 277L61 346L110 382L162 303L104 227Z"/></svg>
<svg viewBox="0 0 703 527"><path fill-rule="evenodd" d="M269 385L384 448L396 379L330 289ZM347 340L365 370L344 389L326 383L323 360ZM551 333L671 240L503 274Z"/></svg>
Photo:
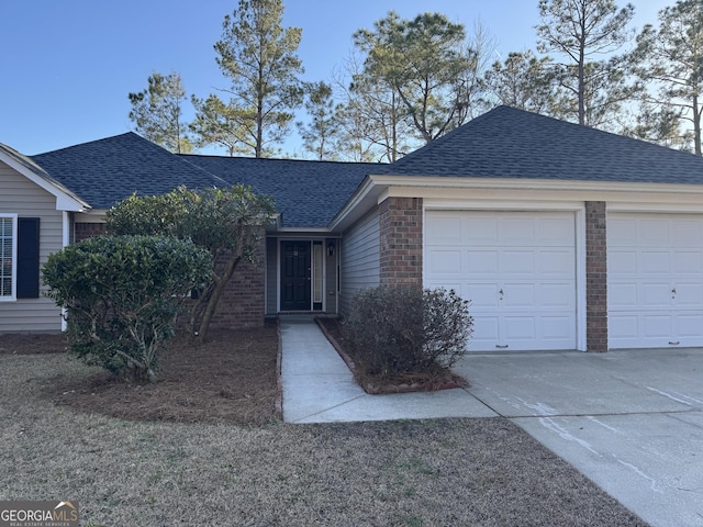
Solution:
<svg viewBox="0 0 703 527"><path fill-rule="evenodd" d="M71 349L127 381L154 381L186 294L212 273L212 257L165 236L99 236L49 256L47 295L66 310Z"/></svg>

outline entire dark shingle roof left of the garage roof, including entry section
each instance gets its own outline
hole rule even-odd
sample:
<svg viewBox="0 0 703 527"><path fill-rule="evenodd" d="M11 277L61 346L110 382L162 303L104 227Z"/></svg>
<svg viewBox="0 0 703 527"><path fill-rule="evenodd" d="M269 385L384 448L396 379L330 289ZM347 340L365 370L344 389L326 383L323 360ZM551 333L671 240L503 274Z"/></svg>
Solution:
<svg viewBox="0 0 703 527"><path fill-rule="evenodd" d="M46 154L32 160L94 209L133 192L157 195L236 183L272 195L288 227L324 227L378 164L175 156L130 132Z"/></svg>

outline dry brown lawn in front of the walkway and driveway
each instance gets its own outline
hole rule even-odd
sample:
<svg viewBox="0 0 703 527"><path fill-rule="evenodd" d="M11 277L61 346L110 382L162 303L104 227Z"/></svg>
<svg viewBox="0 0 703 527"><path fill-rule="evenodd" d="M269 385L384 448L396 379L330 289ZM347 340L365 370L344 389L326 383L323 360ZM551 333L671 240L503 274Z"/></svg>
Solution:
<svg viewBox="0 0 703 527"><path fill-rule="evenodd" d="M505 419L145 422L53 400L96 374L0 355L0 500L77 500L89 526L645 525Z"/></svg>

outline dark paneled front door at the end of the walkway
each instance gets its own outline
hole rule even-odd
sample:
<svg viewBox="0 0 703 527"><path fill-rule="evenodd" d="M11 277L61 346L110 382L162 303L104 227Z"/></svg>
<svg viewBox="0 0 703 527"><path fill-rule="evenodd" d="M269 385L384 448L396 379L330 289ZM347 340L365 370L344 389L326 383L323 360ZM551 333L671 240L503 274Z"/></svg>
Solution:
<svg viewBox="0 0 703 527"><path fill-rule="evenodd" d="M281 243L281 311L310 311L310 242Z"/></svg>

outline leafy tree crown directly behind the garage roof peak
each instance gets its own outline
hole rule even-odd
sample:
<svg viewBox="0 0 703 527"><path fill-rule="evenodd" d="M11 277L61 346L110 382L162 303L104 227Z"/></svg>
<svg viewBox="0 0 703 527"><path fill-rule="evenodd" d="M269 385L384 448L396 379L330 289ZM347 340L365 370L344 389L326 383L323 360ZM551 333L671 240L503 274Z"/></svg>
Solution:
<svg viewBox="0 0 703 527"><path fill-rule="evenodd" d="M558 82L549 57L531 51L511 53L486 72L488 89L501 104L528 112L556 115Z"/></svg>

